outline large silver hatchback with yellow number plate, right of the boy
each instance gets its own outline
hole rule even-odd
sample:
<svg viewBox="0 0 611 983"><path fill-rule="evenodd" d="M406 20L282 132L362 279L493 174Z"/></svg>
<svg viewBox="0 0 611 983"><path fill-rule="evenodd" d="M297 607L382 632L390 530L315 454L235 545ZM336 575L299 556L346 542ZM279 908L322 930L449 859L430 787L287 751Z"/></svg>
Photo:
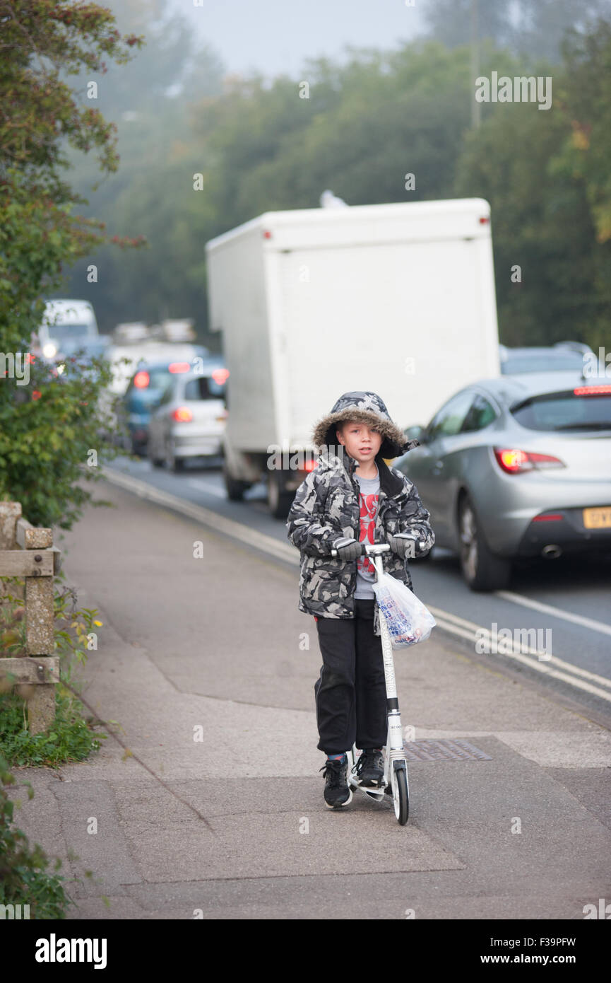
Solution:
<svg viewBox="0 0 611 983"><path fill-rule="evenodd" d="M517 557L611 551L611 379L484 379L406 434L421 445L395 467L473 591L506 587Z"/></svg>

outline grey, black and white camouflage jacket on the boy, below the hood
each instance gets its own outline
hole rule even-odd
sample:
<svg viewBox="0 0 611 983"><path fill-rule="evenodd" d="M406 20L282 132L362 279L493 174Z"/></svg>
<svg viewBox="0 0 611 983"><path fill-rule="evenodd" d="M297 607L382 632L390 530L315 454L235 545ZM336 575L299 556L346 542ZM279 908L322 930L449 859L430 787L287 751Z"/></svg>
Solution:
<svg viewBox="0 0 611 983"><path fill-rule="evenodd" d="M422 505L417 488L397 468L389 467L381 456L375 461L380 478L374 542L384 543L388 535L413 533L423 541L427 552L435 542L429 513ZM357 560L345 562L331 555L333 541L342 536L360 538L358 462L348 453L344 460L323 451L317 466L302 482L287 519L289 541L301 551L299 608L318 617L353 618L357 586ZM382 553L386 573L403 581L410 590L412 577L408 560L396 553ZM377 603L374 604L373 631L380 635Z"/></svg>

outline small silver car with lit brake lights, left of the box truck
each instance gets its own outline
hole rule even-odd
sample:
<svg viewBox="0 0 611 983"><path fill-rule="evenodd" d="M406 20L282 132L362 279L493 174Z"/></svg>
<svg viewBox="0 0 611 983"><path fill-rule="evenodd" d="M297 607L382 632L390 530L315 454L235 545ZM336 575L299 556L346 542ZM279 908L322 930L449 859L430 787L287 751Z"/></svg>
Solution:
<svg viewBox="0 0 611 983"><path fill-rule="evenodd" d="M220 457L227 419L225 381L220 365L168 376L168 384L148 425L148 458L182 471L187 458Z"/></svg>

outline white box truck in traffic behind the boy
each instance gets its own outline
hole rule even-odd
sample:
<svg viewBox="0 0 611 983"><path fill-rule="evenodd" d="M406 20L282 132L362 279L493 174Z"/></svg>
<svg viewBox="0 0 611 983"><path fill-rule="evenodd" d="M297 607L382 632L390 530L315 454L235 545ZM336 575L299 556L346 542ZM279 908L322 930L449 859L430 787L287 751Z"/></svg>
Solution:
<svg viewBox="0 0 611 983"><path fill-rule="evenodd" d="M498 376L490 206L482 199L269 211L206 243L210 329L223 332L230 498L266 479L286 517L314 422L370 389L400 427ZM268 462L271 462L269 465Z"/></svg>

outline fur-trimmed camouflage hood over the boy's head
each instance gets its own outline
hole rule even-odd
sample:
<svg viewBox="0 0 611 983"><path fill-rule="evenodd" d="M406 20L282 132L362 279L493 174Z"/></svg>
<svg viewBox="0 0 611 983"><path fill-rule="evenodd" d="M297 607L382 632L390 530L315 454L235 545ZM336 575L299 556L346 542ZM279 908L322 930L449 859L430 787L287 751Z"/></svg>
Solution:
<svg viewBox="0 0 611 983"><path fill-rule="evenodd" d="M343 393L331 412L317 421L312 433L314 446L318 449L337 447L339 441L335 426L344 420L358 420L382 434L384 439L376 457L400 457L419 443L418 440L406 439L403 431L391 420L384 401L377 393L356 391Z"/></svg>

